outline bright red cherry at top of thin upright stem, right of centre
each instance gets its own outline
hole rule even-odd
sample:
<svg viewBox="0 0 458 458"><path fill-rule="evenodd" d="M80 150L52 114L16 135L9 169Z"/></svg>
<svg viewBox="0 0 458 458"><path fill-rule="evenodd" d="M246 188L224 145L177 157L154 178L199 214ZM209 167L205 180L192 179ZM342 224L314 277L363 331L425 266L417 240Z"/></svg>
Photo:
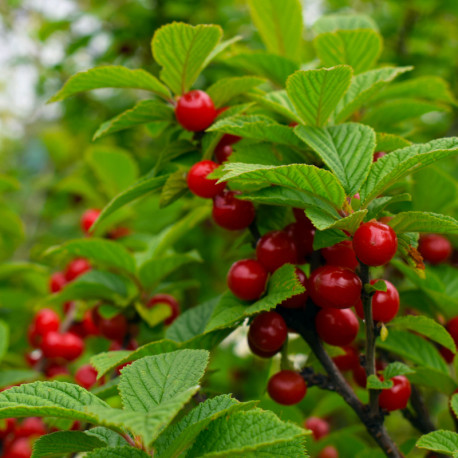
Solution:
<svg viewBox="0 0 458 458"><path fill-rule="evenodd" d="M353 236L356 257L368 266L383 266L396 254L398 238L387 224L363 223Z"/></svg>

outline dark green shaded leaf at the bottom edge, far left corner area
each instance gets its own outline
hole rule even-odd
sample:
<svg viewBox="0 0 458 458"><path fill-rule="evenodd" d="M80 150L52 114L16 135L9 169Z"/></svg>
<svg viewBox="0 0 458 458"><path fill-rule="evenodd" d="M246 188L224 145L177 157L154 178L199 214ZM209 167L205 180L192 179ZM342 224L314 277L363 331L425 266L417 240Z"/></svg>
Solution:
<svg viewBox="0 0 458 458"><path fill-rule="evenodd" d="M61 457L68 453L89 452L106 443L83 431L57 431L41 436L33 444L33 458Z"/></svg>

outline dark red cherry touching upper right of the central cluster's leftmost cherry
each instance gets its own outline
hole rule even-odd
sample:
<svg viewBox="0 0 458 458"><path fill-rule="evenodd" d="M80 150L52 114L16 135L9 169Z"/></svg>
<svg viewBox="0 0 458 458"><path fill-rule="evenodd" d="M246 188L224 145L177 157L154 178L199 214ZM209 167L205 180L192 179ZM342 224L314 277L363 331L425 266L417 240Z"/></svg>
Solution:
<svg viewBox="0 0 458 458"><path fill-rule="evenodd" d="M271 231L258 240L256 257L269 272L274 272L284 264L296 264L296 245L285 231Z"/></svg>

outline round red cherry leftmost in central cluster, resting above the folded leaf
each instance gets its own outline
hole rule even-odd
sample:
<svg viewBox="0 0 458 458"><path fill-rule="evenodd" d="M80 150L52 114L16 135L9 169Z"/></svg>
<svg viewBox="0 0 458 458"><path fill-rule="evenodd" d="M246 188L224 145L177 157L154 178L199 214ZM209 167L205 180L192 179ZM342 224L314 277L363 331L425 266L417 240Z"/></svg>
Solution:
<svg viewBox="0 0 458 458"><path fill-rule="evenodd" d="M227 286L234 296L244 301L259 299L266 289L268 273L254 259L234 262L227 274Z"/></svg>

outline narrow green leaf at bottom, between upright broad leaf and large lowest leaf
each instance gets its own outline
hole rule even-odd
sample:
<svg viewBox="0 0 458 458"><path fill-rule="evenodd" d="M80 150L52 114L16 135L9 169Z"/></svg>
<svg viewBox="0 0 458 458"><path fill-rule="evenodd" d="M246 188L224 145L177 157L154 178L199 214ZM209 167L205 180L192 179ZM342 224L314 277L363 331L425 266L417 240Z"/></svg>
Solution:
<svg viewBox="0 0 458 458"><path fill-rule="evenodd" d="M192 445L210 422L240 410L250 410L255 405L256 401L241 403L227 394L207 399L178 423L166 429L154 443L154 448L161 458L178 456Z"/></svg>

